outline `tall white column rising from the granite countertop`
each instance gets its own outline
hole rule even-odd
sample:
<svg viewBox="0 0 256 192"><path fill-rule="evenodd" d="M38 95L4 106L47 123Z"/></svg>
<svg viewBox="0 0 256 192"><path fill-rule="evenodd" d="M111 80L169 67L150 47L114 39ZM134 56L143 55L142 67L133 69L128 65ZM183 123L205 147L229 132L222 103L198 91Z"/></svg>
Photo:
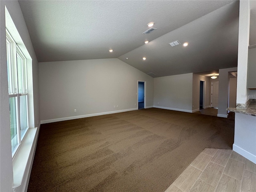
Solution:
<svg viewBox="0 0 256 192"><path fill-rule="evenodd" d="M239 7L239 33L238 33L238 70L236 103L245 104L248 100L247 68L248 46L250 34L250 1L240 1Z"/></svg>

